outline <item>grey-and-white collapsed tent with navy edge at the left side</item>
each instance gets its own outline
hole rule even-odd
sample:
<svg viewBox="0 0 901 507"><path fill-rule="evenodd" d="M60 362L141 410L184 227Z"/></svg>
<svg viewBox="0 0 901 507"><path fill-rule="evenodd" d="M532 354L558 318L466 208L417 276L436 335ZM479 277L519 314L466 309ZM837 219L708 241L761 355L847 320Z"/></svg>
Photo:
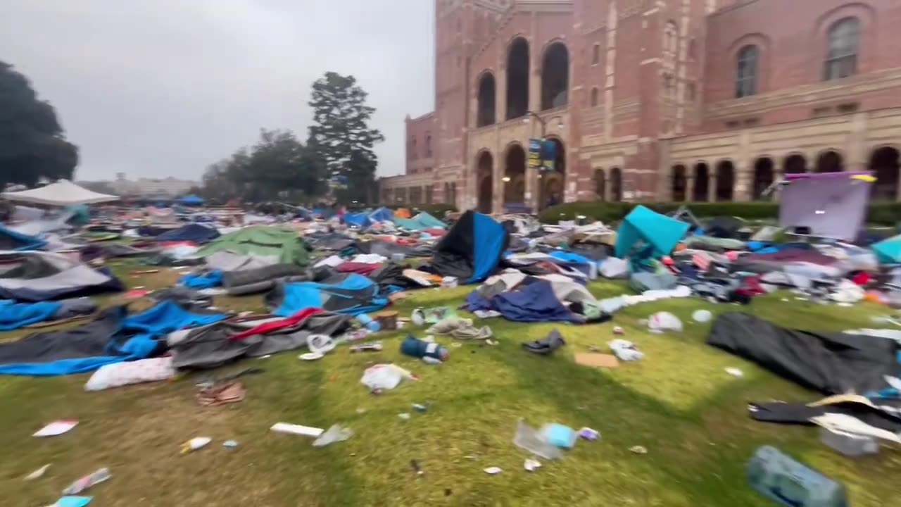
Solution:
<svg viewBox="0 0 901 507"><path fill-rule="evenodd" d="M112 274L59 253L0 251L0 299L59 300L124 290Z"/></svg>

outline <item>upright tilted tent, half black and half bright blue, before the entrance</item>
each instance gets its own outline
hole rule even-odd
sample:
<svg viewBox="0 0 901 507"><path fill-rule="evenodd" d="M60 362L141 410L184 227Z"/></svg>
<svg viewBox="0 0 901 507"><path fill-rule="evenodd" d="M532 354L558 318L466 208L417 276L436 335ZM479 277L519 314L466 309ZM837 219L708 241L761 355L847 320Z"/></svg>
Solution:
<svg viewBox="0 0 901 507"><path fill-rule="evenodd" d="M483 281L495 272L509 243L504 226L469 210L435 246L432 270L464 283Z"/></svg>

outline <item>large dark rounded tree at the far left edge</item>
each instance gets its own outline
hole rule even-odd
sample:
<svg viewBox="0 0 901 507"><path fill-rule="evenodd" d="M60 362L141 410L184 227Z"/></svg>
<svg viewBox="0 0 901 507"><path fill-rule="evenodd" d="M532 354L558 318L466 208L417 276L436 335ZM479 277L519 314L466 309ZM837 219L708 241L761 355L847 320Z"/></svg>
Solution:
<svg viewBox="0 0 901 507"><path fill-rule="evenodd" d="M28 78L0 61L0 189L71 179L77 147L66 141L56 110L40 100Z"/></svg>

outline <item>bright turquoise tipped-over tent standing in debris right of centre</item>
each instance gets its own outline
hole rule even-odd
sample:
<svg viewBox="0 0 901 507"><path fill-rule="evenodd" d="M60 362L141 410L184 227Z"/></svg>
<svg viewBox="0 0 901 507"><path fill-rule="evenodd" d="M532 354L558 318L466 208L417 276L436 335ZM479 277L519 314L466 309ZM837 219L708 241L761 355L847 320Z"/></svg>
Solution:
<svg viewBox="0 0 901 507"><path fill-rule="evenodd" d="M640 243L650 249L652 257L669 255L689 227L685 222L660 215L648 207L635 207L617 232L615 255L623 259Z"/></svg>

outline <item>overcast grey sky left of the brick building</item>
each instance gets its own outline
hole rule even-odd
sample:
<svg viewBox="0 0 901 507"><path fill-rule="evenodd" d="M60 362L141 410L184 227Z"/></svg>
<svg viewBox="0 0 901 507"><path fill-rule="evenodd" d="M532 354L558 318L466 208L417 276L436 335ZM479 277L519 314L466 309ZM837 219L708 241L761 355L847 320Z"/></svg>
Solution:
<svg viewBox="0 0 901 507"><path fill-rule="evenodd" d="M431 0L0 0L0 60L56 106L78 180L196 180L260 127L305 139L327 70L369 92L392 175L432 109L433 25Z"/></svg>

